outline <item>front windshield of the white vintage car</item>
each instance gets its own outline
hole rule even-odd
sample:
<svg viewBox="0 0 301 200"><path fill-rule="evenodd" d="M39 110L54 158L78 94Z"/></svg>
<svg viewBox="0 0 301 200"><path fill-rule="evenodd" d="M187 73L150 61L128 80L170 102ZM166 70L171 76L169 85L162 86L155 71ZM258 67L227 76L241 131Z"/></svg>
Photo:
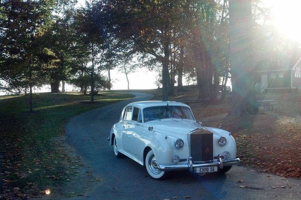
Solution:
<svg viewBox="0 0 301 200"><path fill-rule="evenodd" d="M144 122L157 119L181 118L194 120L191 110L184 106L156 106L143 109Z"/></svg>

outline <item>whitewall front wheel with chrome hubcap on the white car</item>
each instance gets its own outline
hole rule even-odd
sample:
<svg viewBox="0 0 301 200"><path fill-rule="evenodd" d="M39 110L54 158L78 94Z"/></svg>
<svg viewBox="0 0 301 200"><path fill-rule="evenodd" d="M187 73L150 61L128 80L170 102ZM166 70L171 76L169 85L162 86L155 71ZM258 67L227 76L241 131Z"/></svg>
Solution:
<svg viewBox="0 0 301 200"><path fill-rule="evenodd" d="M152 150L146 154L145 168L148 174L154 179L162 180L167 176L167 172L162 172L158 169L156 157Z"/></svg>

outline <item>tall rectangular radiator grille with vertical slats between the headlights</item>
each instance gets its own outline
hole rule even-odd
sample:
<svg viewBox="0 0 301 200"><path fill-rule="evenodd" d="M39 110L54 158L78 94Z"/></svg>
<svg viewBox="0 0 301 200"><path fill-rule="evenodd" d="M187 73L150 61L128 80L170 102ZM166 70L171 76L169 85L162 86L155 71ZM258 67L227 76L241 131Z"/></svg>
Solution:
<svg viewBox="0 0 301 200"><path fill-rule="evenodd" d="M190 153L193 162L213 160L213 133L191 134Z"/></svg>

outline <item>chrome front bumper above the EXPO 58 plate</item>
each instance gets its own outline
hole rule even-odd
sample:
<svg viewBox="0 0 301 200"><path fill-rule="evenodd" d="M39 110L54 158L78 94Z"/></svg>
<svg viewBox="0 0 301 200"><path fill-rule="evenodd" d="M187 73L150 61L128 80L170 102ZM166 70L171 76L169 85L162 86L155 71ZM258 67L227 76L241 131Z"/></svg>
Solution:
<svg viewBox="0 0 301 200"><path fill-rule="evenodd" d="M172 165L158 165L158 169L160 171L175 171L175 170L187 170L189 169L191 172L193 172L193 168L198 167L213 167L218 166L219 169L222 169L223 166L231 166L231 165L238 165L240 163L239 158L235 158L233 160L222 160L222 155L218 155L217 161L209 161L209 162L198 162L193 163L192 157L188 158L189 163L183 163L183 164L172 164Z"/></svg>

